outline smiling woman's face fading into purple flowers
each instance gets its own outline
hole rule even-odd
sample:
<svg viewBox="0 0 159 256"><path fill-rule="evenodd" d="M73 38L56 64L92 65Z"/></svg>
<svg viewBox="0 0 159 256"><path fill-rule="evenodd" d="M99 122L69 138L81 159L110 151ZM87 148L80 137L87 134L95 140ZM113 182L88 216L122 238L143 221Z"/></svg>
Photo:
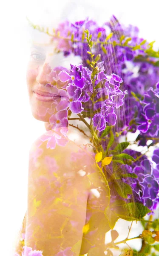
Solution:
<svg viewBox="0 0 159 256"><path fill-rule="evenodd" d="M51 116L57 113L56 107L62 99L59 89L65 89L68 84L58 79L65 68L59 67L62 65L57 57L53 43L31 46L26 73L29 101L34 118L44 122L50 122Z"/></svg>

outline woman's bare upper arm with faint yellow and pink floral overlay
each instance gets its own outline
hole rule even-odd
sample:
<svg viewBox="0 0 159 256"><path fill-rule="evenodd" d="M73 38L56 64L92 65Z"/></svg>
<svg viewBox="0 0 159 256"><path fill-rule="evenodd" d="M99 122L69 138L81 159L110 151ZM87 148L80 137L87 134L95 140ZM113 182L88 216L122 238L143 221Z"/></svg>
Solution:
<svg viewBox="0 0 159 256"><path fill-rule="evenodd" d="M72 165L73 148L41 149L29 163L25 245L43 256L79 256L91 183L79 172L81 157Z"/></svg>

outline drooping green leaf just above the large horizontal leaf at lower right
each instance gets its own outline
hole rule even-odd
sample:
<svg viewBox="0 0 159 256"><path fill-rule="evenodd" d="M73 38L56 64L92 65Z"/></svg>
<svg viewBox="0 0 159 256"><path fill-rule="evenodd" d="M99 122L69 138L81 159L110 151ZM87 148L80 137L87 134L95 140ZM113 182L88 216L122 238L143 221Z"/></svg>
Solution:
<svg viewBox="0 0 159 256"><path fill-rule="evenodd" d="M131 186L127 183L122 182L122 180L116 181L114 183L114 187L116 189L116 192L122 197L122 198L128 198L128 195L132 194Z"/></svg>

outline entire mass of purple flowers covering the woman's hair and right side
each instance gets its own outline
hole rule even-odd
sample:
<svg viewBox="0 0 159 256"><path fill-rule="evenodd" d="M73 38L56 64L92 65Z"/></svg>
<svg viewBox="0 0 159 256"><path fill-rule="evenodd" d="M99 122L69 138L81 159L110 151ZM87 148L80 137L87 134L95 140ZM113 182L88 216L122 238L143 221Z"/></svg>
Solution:
<svg viewBox="0 0 159 256"><path fill-rule="evenodd" d="M95 57L100 55L100 62L96 64L97 73L93 76L90 49L84 33L86 29L91 40L97 43L92 52ZM61 23L53 39L58 41L58 49L65 56L74 52L82 59L82 64L71 65L70 72L63 70L58 76L62 83L67 83L57 106L58 111L65 113L62 122L67 122L69 109L72 113L91 118L99 134L106 126L114 126L114 137L116 132L124 130L123 134L127 134L128 131L138 130L138 145L147 145L147 140L151 138L156 144L159 137L159 67L155 63L158 59L154 58L149 43L139 38L139 29L121 25L114 16L102 26L87 18L75 23ZM59 116L56 118L59 119ZM57 121L56 118L52 120ZM108 140L109 136L101 142L104 150ZM119 143L117 137L115 140ZM133 156L134 153L130 151L129 154ZM145 156L132 166L122 166L127 173L138 176L122 178L131 185L135 201L150 209L155 209L159 201L158 156L159 151L155 150L155 168ZM109 168L113 173L111 165Z"/></svg>

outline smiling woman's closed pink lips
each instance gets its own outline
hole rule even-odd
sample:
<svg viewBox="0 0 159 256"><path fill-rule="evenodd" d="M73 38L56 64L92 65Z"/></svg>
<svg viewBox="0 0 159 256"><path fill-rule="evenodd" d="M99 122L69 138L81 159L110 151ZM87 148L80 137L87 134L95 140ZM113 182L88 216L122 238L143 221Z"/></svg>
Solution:
<svg viewBox="0 0 159 256"><path fill-rule="evenodd" d="M55 93L48 93L40 90L34 90L34 96L36 99L40 101L49 102L53 101L54 99L60 99L61 96Z"/></svg>

